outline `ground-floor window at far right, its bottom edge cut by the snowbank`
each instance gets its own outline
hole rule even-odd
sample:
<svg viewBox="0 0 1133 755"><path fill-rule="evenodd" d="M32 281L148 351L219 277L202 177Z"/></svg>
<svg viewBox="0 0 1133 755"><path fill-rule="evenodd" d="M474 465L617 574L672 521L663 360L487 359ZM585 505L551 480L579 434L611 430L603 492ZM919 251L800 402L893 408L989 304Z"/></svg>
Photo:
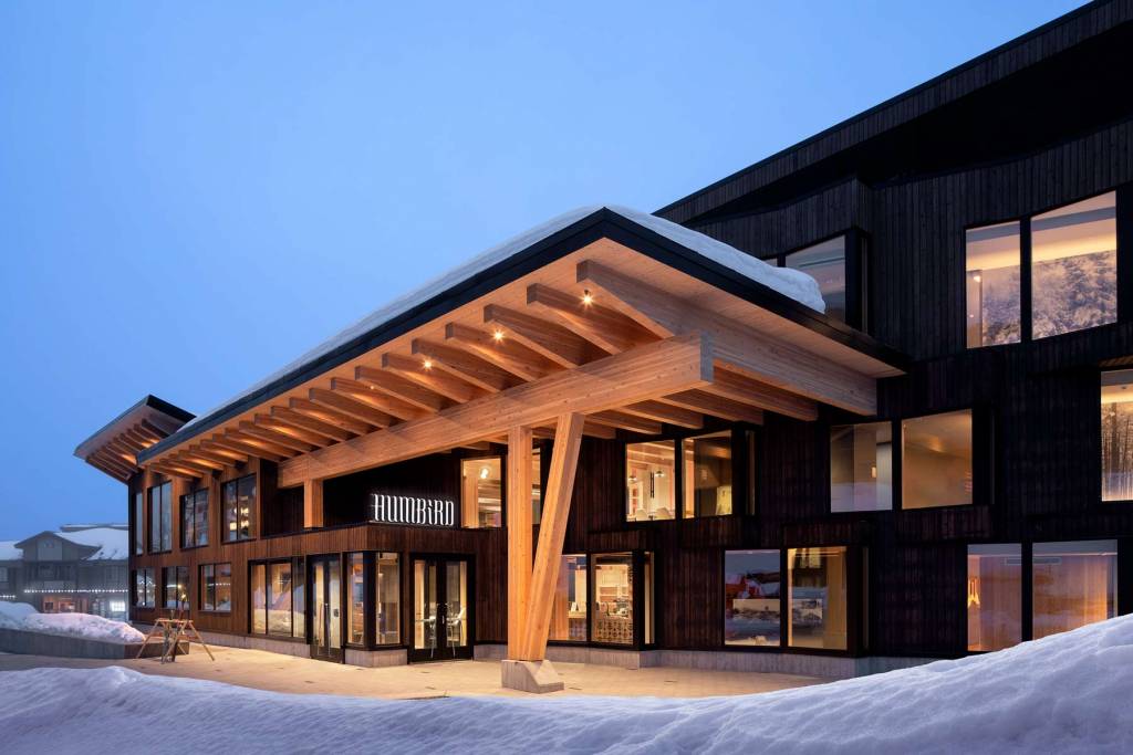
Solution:
<svg viewBox="0 0 1133 755"><path fill-rule="evenodd" d="M1117 616L1117 541L1037 542L1033 638Z"/></svg>

